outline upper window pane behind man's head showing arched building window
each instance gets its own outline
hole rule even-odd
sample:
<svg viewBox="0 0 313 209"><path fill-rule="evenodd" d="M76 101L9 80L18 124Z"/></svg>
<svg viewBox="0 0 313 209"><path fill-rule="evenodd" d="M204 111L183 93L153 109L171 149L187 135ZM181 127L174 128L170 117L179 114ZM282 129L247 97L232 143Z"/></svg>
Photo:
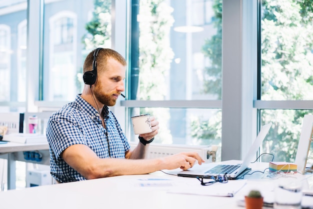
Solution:
<svg viewBox="0 0 313 209"><path fill-rule="evenodd" d="M85 56L96 47L110 47L110 4L44 1L42 100L69 101L82 91Z"/></svg>

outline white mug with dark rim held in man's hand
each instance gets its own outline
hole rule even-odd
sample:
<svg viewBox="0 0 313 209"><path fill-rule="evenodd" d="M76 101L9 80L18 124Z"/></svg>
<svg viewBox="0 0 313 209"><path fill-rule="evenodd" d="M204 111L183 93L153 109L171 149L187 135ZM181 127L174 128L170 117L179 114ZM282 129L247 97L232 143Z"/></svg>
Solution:
<svg viewBox="0 0 313 209"><path fill-rule="evenodd" d="M132 127L135 134L149 133L152 131L150 114L140 114L131 117Z"/></svg>

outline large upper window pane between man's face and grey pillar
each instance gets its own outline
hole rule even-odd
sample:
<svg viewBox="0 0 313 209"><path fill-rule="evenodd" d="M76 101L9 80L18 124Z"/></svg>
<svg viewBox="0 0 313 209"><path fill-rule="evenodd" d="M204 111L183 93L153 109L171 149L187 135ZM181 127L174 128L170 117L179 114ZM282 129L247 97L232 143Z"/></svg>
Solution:
<svg viewBox="0 0 313 209"><path fill-rule="evenodd" d="M220 99L219 0L139 0L131 12L130 99Z"/></svg>

